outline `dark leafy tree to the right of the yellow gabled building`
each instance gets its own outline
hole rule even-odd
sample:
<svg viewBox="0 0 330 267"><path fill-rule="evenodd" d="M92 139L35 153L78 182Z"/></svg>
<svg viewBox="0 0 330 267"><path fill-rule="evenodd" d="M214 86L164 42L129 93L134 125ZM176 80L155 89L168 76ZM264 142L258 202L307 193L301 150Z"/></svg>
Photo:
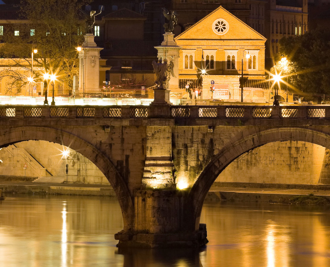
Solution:
<svg viewBox="0 0 330 267"><path fill-rule="evenodd" d="M301 36L282 38L276 61L286 57L289 83L310 94L330 93L330 32L317 29Z"/></svg>

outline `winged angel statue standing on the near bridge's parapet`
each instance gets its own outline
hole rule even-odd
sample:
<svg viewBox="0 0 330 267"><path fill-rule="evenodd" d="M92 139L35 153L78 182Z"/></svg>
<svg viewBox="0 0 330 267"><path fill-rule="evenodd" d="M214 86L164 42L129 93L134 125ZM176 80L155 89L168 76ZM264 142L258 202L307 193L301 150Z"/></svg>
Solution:
<svg viewBox="0 0 330 267"><path fill-rule="evenodd" d="M153 70L156 73L156 81L155 84L158 85L158 88L169 88L169 81L172 77L176 77L174 75L174 56L172 56L170 64L167 63L167 59L164 59L162 63L162 59L158 59L158 63L156 61L152 62Z"/></svg>

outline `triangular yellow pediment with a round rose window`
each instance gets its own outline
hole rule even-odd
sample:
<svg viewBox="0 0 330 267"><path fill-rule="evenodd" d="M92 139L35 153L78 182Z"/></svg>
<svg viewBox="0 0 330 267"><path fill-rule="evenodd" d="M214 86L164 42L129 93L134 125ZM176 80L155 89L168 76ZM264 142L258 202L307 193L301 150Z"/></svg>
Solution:
<svg viewBox="0 0 330 267"><path fill-rule="evenodd" d="M178 35L175 40L266 41L266 38L220 6L189 29Z"/></svg>

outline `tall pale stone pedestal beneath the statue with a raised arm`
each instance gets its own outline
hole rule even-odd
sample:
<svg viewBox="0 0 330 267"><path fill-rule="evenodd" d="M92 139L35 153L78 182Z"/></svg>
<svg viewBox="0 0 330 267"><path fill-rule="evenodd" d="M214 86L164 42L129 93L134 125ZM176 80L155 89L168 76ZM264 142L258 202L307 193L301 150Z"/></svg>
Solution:
<svg viewBox="0 0 330 267"><path fill-rule="evenodd" d="M100 51L94 42L94 35L84 35L82 50L79 51L79 93L101 93L100 89Z"/></svg>

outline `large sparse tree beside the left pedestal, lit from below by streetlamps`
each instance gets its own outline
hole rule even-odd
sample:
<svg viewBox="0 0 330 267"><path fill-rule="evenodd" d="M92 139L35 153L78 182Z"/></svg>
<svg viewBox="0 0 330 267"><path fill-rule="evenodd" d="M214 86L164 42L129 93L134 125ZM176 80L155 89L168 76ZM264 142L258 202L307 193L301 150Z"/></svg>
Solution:
<svg viewBox="0 0 330 267"><path fill-rule="evenodd" d="M21 0L21 19L27 23L6 27L0 55L11 59L11 63L0 73L0 79L9 77L8 86L12 89L25 86L26 77L32 74L31 54L37 49L33 55L35 81L42 81L44 73L56 74L71 87L73 76L78 72L76 47L83 42L84 21L80 19L80 9L84 4L86 0ZM19 36L14 36L17 30Z"/></svg>

